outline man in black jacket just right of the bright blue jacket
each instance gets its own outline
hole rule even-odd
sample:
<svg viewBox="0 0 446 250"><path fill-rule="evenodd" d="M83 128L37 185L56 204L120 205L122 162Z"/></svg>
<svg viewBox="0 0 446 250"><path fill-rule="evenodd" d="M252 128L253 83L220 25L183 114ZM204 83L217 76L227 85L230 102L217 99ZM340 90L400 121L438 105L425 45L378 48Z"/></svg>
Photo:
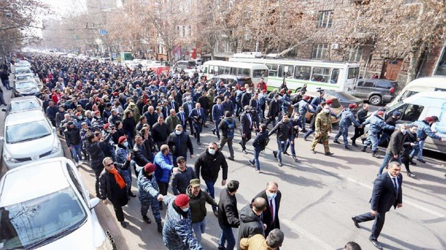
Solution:
<svg viewBox="0 0 446 250"><path fill-rule="evenodd" d="M181 124L176 125L175 131L167 137L167 145L172 152L172 162L176 162L176 158L183 156L187 159L187 149L191 152L193 158L193 145L191 138L186 132L183 132Z"/></svg>

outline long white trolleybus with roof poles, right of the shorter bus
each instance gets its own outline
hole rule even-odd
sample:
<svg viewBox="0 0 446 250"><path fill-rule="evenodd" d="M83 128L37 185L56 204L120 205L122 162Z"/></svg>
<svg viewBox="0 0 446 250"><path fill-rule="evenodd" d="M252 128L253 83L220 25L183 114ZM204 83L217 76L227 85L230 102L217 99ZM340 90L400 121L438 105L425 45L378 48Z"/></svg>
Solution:
<svg viewBox="0 0 446 250"><path fill-rule="evenodd" d="M268 66L268 91L279 88L285 78L287 88L298 91L307 84L308 91L316 88L352 92L360 64L321 60L279 60L268 58L229 58L229 62L248 62Z"/></svg>

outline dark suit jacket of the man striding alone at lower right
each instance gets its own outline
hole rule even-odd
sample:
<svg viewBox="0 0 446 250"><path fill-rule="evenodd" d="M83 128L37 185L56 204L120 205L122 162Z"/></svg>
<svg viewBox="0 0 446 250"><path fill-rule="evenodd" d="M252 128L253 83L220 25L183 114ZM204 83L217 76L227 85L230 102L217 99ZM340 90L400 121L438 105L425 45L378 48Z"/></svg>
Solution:
<svg viewBox="0 0 446 250"><path fill-rule="evenodd" d="M372 198L370 199L371 209L378 212L388 212L392 206L397 207L398 203L403 203L403 175L401 173L397 177L398 192L395 190L392 179L388 172L379 175L373 182Z"/></svg>

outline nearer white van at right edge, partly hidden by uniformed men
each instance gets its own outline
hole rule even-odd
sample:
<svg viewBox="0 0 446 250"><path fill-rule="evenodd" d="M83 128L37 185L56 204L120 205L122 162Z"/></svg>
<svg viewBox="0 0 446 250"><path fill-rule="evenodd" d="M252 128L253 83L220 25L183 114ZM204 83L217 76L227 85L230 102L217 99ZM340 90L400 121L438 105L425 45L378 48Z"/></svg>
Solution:
<svg viewBox="0 0 446 250"><path fill-rule="evenodd" d="M412 123L413 121L423 121L427 116L438 116L439 121L434 123L431 128L432 131L437 132L438 136L446 140L445 92L419 92L388 108L384 118L388 118L388 116L397 110L401 112L401 119L397 121L397 125L401 123ZM446 143L427 137L424 149L445 153Z"/></svg>

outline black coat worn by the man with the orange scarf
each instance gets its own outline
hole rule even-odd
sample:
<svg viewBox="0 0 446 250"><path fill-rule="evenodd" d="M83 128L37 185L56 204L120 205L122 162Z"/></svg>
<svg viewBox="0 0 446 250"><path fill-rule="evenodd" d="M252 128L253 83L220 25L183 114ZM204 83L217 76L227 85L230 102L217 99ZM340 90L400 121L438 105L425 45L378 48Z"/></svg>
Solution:
<svg viewBox="0 0 446 250"><path fill-rule="evenodd" d="M124 164L115 162L114 164L119 175L124 178L123 170L130 167L130 162L126 161ZM104 168L101 175L99 175L99 199L109 199L114 203L114 201L119 200L119 196L121 195L127 197L127 188L119 188L113 173L108 172L106 168Z"/></svg>

